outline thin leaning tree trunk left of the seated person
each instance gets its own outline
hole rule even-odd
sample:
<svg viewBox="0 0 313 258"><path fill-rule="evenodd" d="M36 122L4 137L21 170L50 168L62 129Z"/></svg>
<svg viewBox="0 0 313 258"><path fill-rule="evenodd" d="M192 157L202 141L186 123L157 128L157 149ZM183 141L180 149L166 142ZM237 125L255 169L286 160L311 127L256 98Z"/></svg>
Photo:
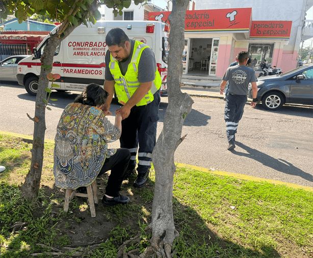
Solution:
<svg viewBox="0 0 313 258"><path fill-rule="evenodd" d="M42 172L42 162L43 162L43 150L44 150L44 135L46 131L45 123L45 103L42 99L46 99L47 92L45 88L48 87L49 80L47 79L47 74L51 72L53 67L53 58L55 56L55 51L57 46L61 41L66 38L77 26L68 27L62 37L58 35L58 32L54 35L50 35L49 42L44 48L43 55L41 57L41 70L38 80L38 91L36 96L36 108L35 117L31 118L34 121L34 138L33 138L33 148L31 168L28 172L24 184L21 186L21 191L25 199L34 199L39 194L40 179ZM43 67L44 66L44 67ZM50 66L49 69L47 66Z"/></svg>

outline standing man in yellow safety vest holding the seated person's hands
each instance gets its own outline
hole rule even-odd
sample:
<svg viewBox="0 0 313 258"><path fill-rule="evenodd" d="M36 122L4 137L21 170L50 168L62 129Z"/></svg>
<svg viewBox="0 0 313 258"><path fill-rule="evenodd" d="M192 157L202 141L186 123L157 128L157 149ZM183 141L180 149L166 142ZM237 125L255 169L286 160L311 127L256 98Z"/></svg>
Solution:
<svg viewBox="0 0 313 258"><path fill-rule="evenodd" d="M147 182L156 142L159 120L161 76L150 47L129 40L123 30L112 29L106 36L109 50L106 53L104 89L109 92L106 110L109 110L114 89L122 105L115 113L122 114L120 146L131 151L126 176L136 172L138 150L138 175L135 187Z"/></svg>

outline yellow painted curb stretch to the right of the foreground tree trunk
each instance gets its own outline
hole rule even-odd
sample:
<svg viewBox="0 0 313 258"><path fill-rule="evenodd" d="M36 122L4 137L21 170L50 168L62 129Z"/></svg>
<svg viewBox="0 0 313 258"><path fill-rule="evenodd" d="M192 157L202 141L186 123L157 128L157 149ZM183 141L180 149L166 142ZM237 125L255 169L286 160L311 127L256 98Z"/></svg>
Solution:
<svg viewBox="0 0 313 258"><path fill-rule="evenodd" d="M212 170L207 169L207 168L197 167L197 166L188 165L188 164L181 164L181 163L175 163L175 164L177 167L180 167L180 168L190 168L190 169L199 170L202 172L207 172L207 173L212 173L212 174L217 174L217 175L224 175L224 176L231 176L231 177L235 177L238 179L244 179L244 180L251 180L251 181L257 181L257 182L268 182L268 183L271 183L274 185L285 185L285 186L288 186L291 188L303 189L306 191L313 192L313 188L308 187L308 186L290 184L290 183L285 183L285 182L281 182L278 180L266 179L266 178L262 178L262 177L251 176L251 175L242 175L242 174L231 173L231 172L226 172L226 171L219 171L219 170L212 171Z"/></svg>

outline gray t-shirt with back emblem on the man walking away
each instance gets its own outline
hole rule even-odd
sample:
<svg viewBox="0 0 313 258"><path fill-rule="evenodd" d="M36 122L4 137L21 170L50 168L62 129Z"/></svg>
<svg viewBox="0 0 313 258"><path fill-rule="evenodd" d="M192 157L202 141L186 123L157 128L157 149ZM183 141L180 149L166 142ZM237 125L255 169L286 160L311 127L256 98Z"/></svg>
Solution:
<svg viewBox="0 0 313 258"><path fill-rule="evenodd" d="M255 83L256 76L253 69L245 65L235 65L227 69L222 80L228 81L228 92L236 95L247 95L249 83Z"/></svg>

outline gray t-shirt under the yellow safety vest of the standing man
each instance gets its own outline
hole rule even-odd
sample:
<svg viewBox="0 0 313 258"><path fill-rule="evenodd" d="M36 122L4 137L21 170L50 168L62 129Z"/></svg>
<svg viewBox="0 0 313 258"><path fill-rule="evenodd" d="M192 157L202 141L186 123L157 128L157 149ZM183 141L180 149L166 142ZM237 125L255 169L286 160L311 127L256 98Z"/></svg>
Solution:
<svg viewBox="0 0 313 258"><path fill-rule="evenodd" d="M132 50L131 50L132 54L129 55L129 57L125 60L125 62L118 62L120 70L123 75L125 75L128 64L131 63L131 60L132 60L135 40L131 39L131 43L132 43ZM110 54L110 51L108 50L106 53L105 79L108 81L113 81L114 79L109 69L110 61L111 61L111 54ZM140 61L138 65L138 81L140 83L147 83L147 82L154 81L156 69L157 67L156 67L154 53L150 47L147 47L143 50L141 57L140 57Z"/></svg>

